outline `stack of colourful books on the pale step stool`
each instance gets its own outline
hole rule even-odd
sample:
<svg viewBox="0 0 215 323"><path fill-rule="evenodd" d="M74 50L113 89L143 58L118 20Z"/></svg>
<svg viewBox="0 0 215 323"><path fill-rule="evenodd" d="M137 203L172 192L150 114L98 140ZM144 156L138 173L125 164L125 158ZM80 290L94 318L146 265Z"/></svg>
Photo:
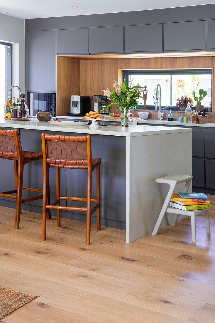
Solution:
<svg viewBox="0 0 215 323"><path fill-rule="evenodd" d="M170 206L183 211L210 209L211 204L207 199L208 196L204 193L172 194Z"/></svg>

